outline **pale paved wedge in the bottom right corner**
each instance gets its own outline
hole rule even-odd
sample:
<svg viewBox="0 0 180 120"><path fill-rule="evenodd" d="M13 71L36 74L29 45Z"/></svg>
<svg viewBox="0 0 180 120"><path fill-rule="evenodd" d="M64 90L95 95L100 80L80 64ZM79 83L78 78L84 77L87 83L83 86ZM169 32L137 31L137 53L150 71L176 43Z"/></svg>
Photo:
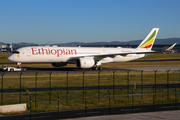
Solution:
<svg viewBox="0 0 180 120"><path fill-rule="evenodd" d="M65 120L180 120L180 110L84 117Z"/></svg>

